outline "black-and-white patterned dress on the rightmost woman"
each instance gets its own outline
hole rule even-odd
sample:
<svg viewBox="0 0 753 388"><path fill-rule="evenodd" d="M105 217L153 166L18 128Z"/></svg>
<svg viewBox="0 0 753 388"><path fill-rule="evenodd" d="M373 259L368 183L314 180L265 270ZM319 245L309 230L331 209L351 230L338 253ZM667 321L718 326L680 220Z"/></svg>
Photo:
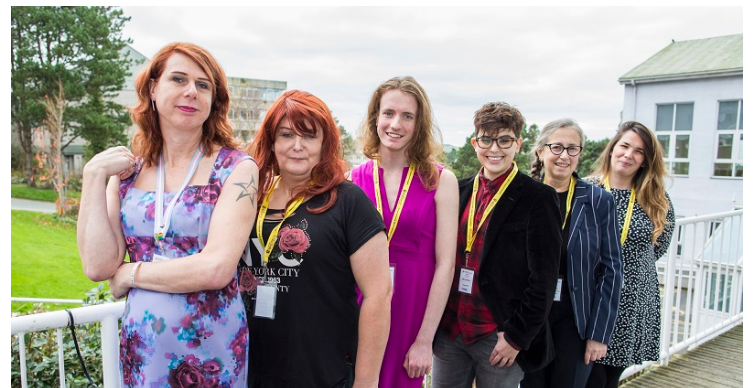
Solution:
<svg viewBox="0 0 753 388"><path fill-rule="evenodd" d="M597 185L599 183L592 178L587 180ZM621 231L630 200L630 190L613 188L612 195L617 205L617 225ZM654 244L651 241L654 224L636 201L627 240L622 246L624 282L617 322L607 355L597 361L598 363L628 367L643 361L659 359L661 300L656 261L667 252L674 228L675 213L670 200L667 224Z"/></svg>

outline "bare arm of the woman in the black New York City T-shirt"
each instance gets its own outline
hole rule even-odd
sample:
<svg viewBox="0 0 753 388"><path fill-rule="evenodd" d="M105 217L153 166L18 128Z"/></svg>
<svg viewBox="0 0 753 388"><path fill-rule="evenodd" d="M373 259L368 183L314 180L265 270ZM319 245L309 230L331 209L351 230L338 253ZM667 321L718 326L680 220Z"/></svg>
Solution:
<svg viewBox="0 0 753 388"><path fill-rule="evenodd" d="M374 235L351 255L350 265L363 294L358 319L358 353L353 387L376 388L390 334L392 282L387 235Z"/></svg>

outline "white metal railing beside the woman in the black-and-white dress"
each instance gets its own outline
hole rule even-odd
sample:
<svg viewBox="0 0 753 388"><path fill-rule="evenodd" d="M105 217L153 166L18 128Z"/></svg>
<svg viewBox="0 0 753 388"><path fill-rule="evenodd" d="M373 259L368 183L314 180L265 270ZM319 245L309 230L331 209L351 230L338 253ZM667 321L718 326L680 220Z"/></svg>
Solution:
<svg viewBox="0 0 753 388"><path fill-rule="evenodd" d="M659 361L627 368L625 379L693 349L743 321L743 210L676 221L657 262L663 284Z"/></svg>

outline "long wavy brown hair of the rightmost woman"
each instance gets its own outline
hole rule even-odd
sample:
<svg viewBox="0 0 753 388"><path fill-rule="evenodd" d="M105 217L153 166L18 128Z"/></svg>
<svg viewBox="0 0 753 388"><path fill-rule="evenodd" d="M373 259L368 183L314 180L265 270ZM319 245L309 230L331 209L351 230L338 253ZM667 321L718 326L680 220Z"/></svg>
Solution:
<svg viewBox="0 0 753 388"><path fill-rule="evenodd" d="M638 204L646 211L648 218L654 224L654 231L651 233L651 240L656 244L657 239L667 224L667 212L669 211L669 199L664 188L664 177L668 175L667 167L664 165L664 152L659 140L654 136L645 125L637 121L626 121L620 125L617 134L604 148L594 166L593 175L600 177L604 183L604 178L609 176L612 170L612 151L622 136L628 132L635 132L645 147L643 166L633 177L633 187Z"/></svg>

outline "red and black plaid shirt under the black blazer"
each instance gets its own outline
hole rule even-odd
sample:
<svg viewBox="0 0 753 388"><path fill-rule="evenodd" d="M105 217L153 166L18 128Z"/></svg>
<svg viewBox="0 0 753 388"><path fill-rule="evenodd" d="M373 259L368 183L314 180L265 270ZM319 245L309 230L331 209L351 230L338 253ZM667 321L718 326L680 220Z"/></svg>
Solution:
<svg viewBox="0 0 753 388"><path fill-rule="evenodd" d="M491 202L494 194L502 186L502 183L510 175L512 168L506 173L497 177L493 181L484 178L483 174L479 173L479 189L476 194L476 214L474 226L478 227L481 222L481 217L484 215L486 206ZM447 301L447 307L442 315L442 320L439 324L440 330L442 330L450 338L455 339L458 333L463 335L463 341L466 345L470 345L491 333L497 331L497 322L494 320L492 313L486 307L484 298L481 296L481 290L478 287L478 271L481 263L481 250L484 246L484 236L486 235L486 229L489 226L489 217L484 220L484 224L481 225L476 240L473 241L471 247L471 253L468 256L468 262L466 263L465 246L468 241L467 227L468 227L468 213L470 210L470 201L465 205L463 210L463 217L460 218L460 225L458 228L458 248L457 255L455 255L455 277L452 280L452 289L450 290L450 298ZM471 287L471 295L460 292L458 286L460 284L460 269L470 268L473 270L473 285ZM511 342L506 336L508 342ZM517 345L511 343L514 348Z"/></svg>

